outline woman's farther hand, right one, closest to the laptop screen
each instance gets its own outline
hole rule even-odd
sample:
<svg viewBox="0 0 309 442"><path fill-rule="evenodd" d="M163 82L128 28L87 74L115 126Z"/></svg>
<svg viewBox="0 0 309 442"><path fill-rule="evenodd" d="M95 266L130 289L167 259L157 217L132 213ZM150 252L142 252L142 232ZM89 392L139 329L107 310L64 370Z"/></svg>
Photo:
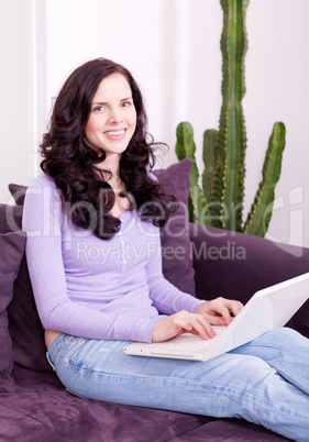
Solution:
<svg viewBox="0 0 309 442"><path fill-rule="evenodd" d="M236 317L242 308L240 301L220 297L201 303L196 313L201 314L212 325L229 325L232 321L230 313Z"/></svg>

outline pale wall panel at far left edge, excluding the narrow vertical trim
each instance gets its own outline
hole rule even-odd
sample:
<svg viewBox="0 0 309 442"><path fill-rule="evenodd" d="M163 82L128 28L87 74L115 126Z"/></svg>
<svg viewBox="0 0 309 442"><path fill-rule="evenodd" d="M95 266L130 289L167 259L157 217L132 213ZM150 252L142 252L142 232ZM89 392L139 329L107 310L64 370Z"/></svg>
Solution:
<svg viewBox="0 0 309 442"><path fill-rule="evenodd" d="M7 185L11 180L27 181L33 174L32 158L29 155L33 129L32 16L27 2L18 3L16 8L14 2L2 1L0 13L1 202L7 202Z"/></svg>

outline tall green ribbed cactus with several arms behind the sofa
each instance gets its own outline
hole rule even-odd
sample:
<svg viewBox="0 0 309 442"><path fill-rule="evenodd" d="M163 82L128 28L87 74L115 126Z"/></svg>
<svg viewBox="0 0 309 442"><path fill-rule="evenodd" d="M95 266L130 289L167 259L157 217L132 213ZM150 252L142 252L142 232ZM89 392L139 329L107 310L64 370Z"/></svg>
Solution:
<svg viewBox="0 0 309 442"><path fill-rule="evenodd" d="M245 93L245 12L249 0L220 0L220 3L223 10L222 107L219 131L208 130L203 134L203 190L198 185L194 131L187 122L177 126L176 154L178 159L192 159L190 221L264 236L272 217L274 189L280 176L285 126L283 123L274 125L262 180L243 223L246 135L242 99Z"/></svg>

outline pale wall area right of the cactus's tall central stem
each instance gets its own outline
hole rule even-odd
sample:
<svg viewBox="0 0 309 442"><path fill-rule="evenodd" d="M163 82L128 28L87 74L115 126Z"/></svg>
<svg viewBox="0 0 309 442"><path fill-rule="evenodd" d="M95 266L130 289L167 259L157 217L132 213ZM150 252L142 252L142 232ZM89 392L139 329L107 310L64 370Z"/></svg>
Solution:
<svg viewBox="0 0 309 442"><path fill-rule="evenodd" d="M286 148L269 235L309 245L309 2L252 1L247 10L246 201L253 200L275 121L286 125Z"/></svg>

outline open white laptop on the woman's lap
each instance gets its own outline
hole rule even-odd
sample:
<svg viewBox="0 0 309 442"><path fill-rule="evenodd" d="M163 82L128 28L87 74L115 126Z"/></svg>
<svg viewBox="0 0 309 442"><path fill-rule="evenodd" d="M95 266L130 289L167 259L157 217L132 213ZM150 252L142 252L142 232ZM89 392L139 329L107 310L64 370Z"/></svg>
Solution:
<svg viewBox="0 0 309 442"><path fill-rule="evenodd" d="M217 336L203 340L184 333L159 343L135 342L125 354L208 361L243 345L269 330L284 327L309 298L309 273L256 291L228 327L214 327Z"/></svg>

